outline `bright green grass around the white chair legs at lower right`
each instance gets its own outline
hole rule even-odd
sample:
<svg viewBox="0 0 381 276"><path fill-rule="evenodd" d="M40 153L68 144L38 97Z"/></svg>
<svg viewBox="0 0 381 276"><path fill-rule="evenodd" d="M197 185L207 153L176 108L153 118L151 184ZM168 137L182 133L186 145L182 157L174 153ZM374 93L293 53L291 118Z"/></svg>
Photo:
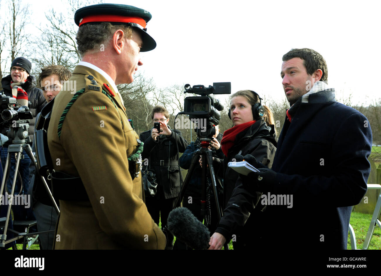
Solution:
<svg viewBox="0 0 381 276"><path fill-rule="evenodd" d="M351 225L355 231L357 249L362 249L371 219L371 214L362 214L358 212L352 212L351 214ZM352 248L349 234L347 248ZM381 249L381 229L378 226L375 227L368 249Z"/></svg>

